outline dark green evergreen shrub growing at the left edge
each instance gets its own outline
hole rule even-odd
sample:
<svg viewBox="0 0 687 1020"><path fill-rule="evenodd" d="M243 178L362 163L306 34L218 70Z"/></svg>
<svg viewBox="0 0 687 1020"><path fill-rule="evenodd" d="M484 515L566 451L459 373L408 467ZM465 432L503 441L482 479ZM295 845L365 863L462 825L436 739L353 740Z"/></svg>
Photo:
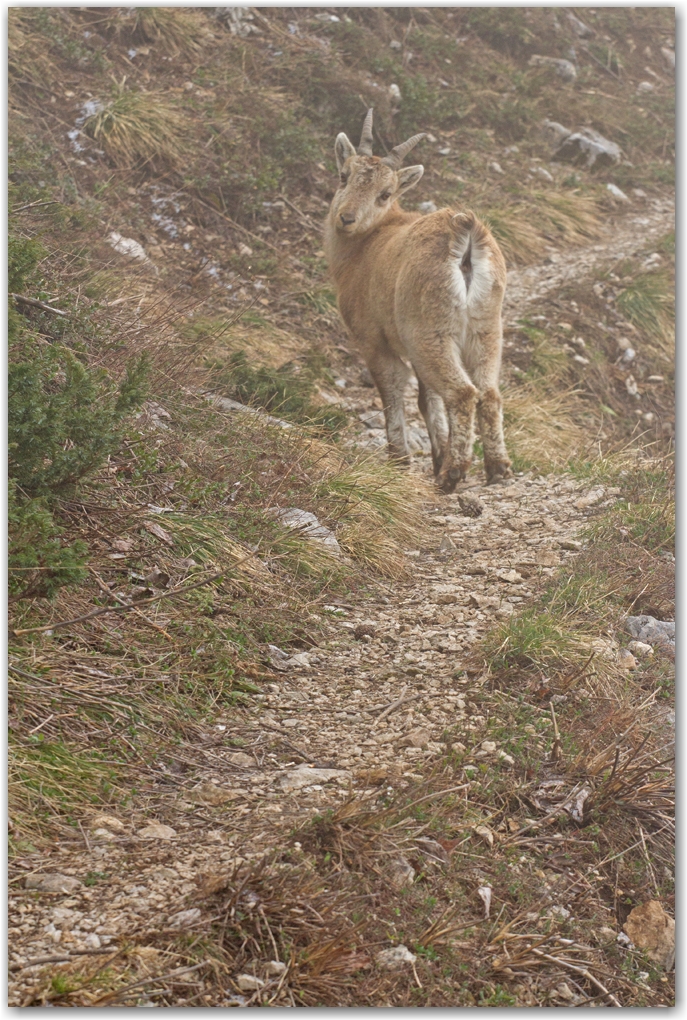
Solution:
<svg viewBox="0 0 687 1020"><path fill-rule="evenodd" d="M36 284L46 256L38 242L10 236L10 293ZM68 544L55 520L56 497L96 470L121 440L125 416L144 398L147 358L131 361L116 386L62 344L33 333L9 302L7 376L9 593L50 598L85 576L86 544Z"/></svg>

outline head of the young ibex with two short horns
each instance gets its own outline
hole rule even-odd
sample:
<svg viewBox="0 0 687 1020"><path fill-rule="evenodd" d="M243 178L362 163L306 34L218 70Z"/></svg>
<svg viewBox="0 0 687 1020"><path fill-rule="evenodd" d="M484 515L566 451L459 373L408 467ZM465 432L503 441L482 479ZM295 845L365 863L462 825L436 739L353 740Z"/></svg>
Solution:
<svg viewBox="0 0 687 1020"><path fill-rule="evenodd" d="M405 166L408 153L425 136L414 135L397 145L388 156L372 155L372 110L367 111L360 145L356 151L348 136L336 136L334 153L340 185L331 203L330 215L344 234L365 234L387 212L404 192L413 188L424 166Z"/></svg>

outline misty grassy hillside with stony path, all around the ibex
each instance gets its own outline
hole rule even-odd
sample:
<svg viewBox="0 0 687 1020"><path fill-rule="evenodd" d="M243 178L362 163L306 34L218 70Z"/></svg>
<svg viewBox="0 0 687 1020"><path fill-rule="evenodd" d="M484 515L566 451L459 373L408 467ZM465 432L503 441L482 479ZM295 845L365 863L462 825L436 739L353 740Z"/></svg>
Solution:
<svg viewBox="0 0 687 1020"><path fill-rule="evenodd" d="M8 73L10 1003L673 1005L674 9L14 7ZM504 251L507 486L415 380L386 458L369 107Z"/></svg>

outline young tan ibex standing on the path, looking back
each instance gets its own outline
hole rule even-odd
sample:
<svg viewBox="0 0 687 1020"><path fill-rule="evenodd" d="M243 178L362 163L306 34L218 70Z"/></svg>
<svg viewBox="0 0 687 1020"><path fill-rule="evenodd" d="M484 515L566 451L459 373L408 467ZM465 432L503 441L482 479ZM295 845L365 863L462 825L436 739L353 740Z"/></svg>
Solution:
<svg viewBox="0 0 687 1020"><path fill-rule="evenodd" d="M404 393L413 366L437 484L446 493L472 461L474 418L487 481L511 477L498 372L506 263L472 212L404 212L398 199L423 166L402 167L425 136L372 155L372 110L356 152L345 134L334 151L340 186L324 247L338 308L384 405L389 455L409 461Z"/></svg>

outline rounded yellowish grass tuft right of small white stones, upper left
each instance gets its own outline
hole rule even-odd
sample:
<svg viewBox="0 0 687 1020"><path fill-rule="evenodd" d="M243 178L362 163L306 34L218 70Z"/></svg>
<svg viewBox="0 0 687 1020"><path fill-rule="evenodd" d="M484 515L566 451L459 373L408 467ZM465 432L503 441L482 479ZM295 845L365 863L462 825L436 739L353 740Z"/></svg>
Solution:
<svg viewBox="0 0 687 1020"><path fill-rule="evenodd" d="M183 152L183 117L162 93L134 92L123 87L84 124L86 133L120 166L139 160L178 163Z"/></svg>

